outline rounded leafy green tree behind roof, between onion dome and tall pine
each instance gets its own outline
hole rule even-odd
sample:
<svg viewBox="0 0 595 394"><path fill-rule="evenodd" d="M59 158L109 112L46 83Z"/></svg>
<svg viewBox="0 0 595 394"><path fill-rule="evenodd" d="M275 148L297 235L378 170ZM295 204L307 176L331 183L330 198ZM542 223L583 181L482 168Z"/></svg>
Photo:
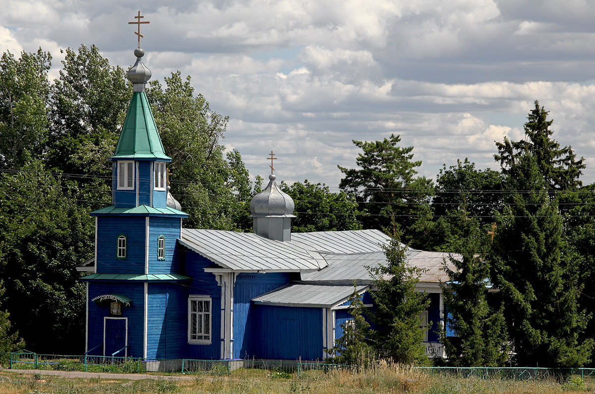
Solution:
<svg viewBox="0 0 595 394"><path fill-rule="evenodd" d="M293 232L346 231L362 228L355 197L339 191L331 193L325 184L312 184L308 179L292 185L281 183L281 190L295 203Z"/></svg>

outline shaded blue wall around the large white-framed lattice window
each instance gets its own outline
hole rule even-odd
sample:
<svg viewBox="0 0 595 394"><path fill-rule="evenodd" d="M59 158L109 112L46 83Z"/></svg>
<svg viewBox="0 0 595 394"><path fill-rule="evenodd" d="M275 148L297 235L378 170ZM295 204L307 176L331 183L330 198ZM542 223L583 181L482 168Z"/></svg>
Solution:
<svg viewBox="0 0 595 394"><path fill-rule="evenodd" d="M193 279L186 290L186 297L192 294L211 297L213 311L211 316L211 343L209 345L191 345L186 341L187 357L201 360L219 360L221 356L221 288L217 285L215 275L203 270L205 267L212 266L213 263L183 247L180 247L180 253L183 254L186 261L186 271L184 273ZM183 319L184 333L187 333L187 324L188 317L186 314Z"/></svg>

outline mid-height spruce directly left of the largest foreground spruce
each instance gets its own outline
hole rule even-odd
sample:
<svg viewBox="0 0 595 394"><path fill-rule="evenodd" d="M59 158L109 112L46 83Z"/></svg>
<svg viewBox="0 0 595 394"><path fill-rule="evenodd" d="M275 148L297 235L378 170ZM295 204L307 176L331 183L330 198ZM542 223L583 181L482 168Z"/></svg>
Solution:
<svg viewBox="0 0 595 394"><path fill-rule="evenodd" d="M441 284L444 306L450 317L445 324L455 336L441 333L448 363L456 367L501 367L508 360L508 338L502 305L488 304L487 261L481 257L486 233L474 219L461 217L464 240L452 245L461 258L449 257L443 269L449 285ZM453 267L453 268L451 268Z"/></svg>

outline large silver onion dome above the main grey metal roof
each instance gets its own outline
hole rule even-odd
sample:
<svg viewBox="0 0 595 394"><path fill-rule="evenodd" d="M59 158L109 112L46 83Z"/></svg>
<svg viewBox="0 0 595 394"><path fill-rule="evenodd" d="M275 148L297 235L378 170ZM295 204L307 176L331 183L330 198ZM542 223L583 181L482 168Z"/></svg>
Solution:
<svg viewBox="0 0 595 394"><path fill-rule="evenodd" d="M252 201L250 201L250 213L252 213L250 217L295 218L295 215L292 215L295 209L293 199L278 188L275 175L269 175L268 179L270 182L267 187L252 197Z"/></svg>

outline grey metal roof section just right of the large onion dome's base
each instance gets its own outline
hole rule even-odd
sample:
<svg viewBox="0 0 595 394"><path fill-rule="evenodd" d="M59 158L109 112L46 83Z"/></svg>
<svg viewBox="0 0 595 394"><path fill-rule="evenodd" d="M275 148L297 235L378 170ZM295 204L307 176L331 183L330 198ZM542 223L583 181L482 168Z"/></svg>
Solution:
<svg viewBox="0 0 595 394"><path fill-rule="evenodd" d="M292 233L291 243L322 253L367 253L381 251L390 237L378 230L318 231Z"/></svg>

